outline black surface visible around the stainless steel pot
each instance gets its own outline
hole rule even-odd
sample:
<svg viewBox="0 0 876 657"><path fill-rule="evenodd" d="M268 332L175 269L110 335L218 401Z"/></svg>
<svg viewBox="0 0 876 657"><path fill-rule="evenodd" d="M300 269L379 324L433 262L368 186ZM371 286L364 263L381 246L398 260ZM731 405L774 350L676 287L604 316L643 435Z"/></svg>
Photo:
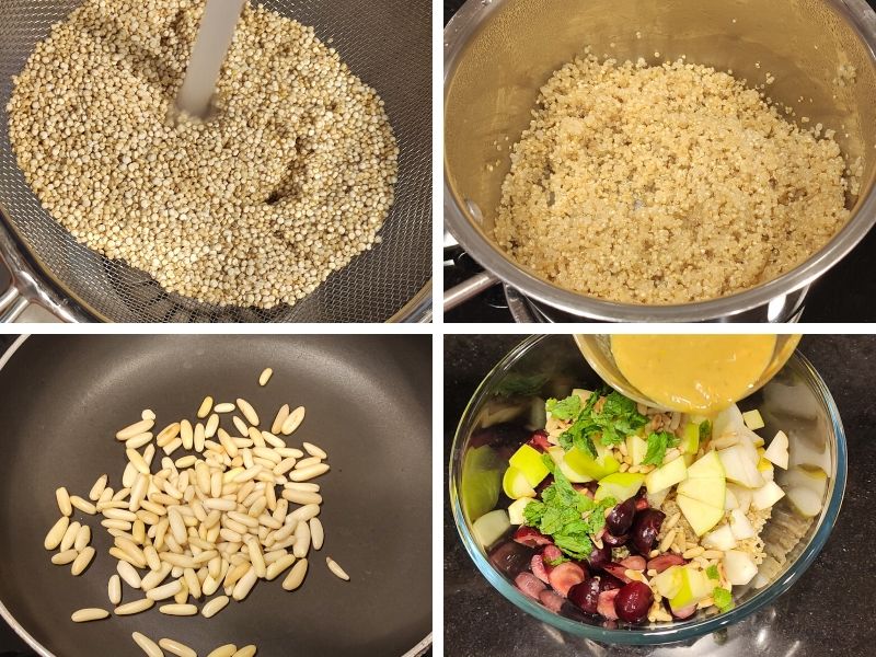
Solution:
<svg viewBox="0 0 876 657"><path fill-rule="evenodd" d="M472 0L474 1L474 0ZM876 9L876 0L867 0ZM464 4L463 0L445 0L445 23ZM809 291L803 322L874 322L876 321L876 267L871 256L876 253L876 230L855 246L842 262L828 272ZM462 283L479 272L471 258L461 266L445 267L445 289ZM445 313L446 322L512 322L504 307L500 286Z"/></svg>

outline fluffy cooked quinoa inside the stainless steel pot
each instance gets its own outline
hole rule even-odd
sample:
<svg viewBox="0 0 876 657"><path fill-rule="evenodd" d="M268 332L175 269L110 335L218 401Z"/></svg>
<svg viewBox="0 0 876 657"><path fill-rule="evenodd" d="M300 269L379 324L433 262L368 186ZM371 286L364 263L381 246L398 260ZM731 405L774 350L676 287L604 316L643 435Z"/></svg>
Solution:
<svg viewBox="0 0 876 657"><path fill-rule="evenodd" d="M769 281L849 218L839 146L733 76L586 55L541 89L495 235L562 287L683 303Z"/></svg>

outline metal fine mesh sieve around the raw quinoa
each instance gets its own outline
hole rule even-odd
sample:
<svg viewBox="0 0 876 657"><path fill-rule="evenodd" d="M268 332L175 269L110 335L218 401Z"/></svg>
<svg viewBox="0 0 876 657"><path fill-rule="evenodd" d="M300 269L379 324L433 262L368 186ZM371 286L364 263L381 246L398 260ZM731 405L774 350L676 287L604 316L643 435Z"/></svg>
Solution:
<svg viewBox="0 0 876 657"><path fill-rule="evenodd" d="M265 0L333 38L350 70L385 102L399 141L395 203L383 241L306 299L272 310L218 307L165 292L149 275L78 244L39 205L9 141L12 76L70 0L0 3L0 246L25 293L67 319L114 322L383 322L417 319L431 277L431 57L426 0ZM0 231L3 232L3 231ZM22 269L25 269L24 272ZM3 301L14 301L9 292ZM53 299L56 300L53 303Z"/></svg>

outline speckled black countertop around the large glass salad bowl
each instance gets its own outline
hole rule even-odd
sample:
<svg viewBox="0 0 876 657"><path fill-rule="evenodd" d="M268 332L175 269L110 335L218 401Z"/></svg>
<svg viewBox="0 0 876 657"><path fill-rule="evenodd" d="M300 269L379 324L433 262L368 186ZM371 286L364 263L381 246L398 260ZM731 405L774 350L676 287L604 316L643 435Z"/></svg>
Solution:
<svg viewBox="0 0 876 657"><path fill-rule="evenodd" d="M445 462L462 411L488 370L523 336L445 338ZM477 572L447 506L445 470L445 654L448 657L598 656L729 657L769 655L864 657L876 654L876 586L872 575L876 516L865 492L876 485L876 337L806 336L812 361L840 410L849 443L842 510L825 550L775 604L695 644L607 646L548 626L508 602ZM446 469L446 465L445 465Z"/></svg>

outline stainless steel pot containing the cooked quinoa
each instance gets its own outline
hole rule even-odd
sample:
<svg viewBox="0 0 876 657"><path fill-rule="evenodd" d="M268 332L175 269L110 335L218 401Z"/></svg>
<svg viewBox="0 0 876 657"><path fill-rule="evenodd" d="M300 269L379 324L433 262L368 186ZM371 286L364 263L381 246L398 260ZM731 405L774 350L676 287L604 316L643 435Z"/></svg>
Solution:
<svg viewBox="0 0 876 657"><path fill-rule="evenodd" d="M641 37L637 36L639 33ZM771 96L802 106L811 124L835 127L850 161L861 158L852 218L809 260L756 288L708 301L635 306L585 297L540 278L493 239L508 148L530 120L552 71L587 45L621 59L654 53L775 77ZM527 298L603 321L786 321L808 286L876 222L876 13L865 0L469 0L445 28L445 221L488 272ZM759 66L756 66L759 65ZM854 67L852 80L840 67ZM508 140L506 140L506 137ZM497 146L502 150L497 150ZM493 280L482 278L483 288ZM464 284L463 284L464 285ZM464 295L452 290L451 299ZM446 304L447 306L447 304Z"/></svg>

